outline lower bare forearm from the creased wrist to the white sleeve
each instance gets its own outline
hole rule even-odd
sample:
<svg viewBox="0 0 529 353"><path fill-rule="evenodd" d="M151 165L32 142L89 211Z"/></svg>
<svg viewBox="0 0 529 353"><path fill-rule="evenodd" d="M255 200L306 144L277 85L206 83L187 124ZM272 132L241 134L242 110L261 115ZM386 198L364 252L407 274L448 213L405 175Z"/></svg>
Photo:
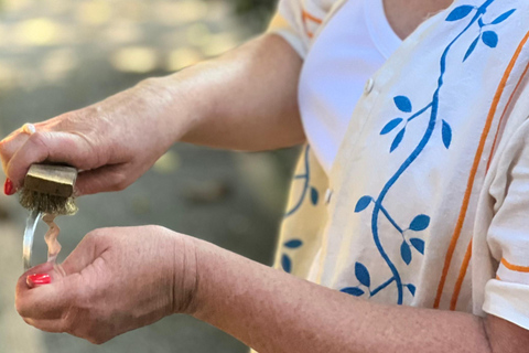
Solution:
<svg viewBox="0 0 529 353"><path fill-rule="evenodd" d="M194 315L260 353L525 352L501 319L360 300L196 242Z"/></svg>

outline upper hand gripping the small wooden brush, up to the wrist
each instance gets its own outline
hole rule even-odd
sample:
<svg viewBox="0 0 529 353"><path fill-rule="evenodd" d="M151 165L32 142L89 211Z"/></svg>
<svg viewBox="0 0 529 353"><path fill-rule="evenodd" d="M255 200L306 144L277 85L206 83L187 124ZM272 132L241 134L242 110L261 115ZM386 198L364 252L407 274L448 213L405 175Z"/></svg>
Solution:
<svg viewBox="0 0 529 353"><path fill-rule="evenodd" d="M12 132L0 142L0 158L14 190L23 185L30 165L40 162L80 170L77 195L132 184L185 130L182 106L177 119L168 119L165 111L177 99L160 82L148 79L89 107L35 124L31 136L22 128Z"/></svg>

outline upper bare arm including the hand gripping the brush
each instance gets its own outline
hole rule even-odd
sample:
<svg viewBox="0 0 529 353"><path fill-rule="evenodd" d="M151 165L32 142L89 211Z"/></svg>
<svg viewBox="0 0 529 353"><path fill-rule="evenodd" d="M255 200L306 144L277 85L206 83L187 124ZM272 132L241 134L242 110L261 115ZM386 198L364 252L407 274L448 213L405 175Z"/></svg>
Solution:
<svg viewBox="0 0 529 353"><path fill-rule="evenodd" d="M20 188L31 164L77 167L79 194L122 190L176 141L266 150L304 140L298 113L302 61L264 34L174 75L147 79L89 107L19 129L0 142L7 176Z"/></svg>

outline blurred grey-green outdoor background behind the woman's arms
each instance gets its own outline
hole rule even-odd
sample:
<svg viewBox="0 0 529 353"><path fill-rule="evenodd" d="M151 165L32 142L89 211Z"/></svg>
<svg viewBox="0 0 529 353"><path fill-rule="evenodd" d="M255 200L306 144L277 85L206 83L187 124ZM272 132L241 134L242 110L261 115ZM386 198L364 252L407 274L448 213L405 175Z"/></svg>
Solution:
<svg viewBox="0 0 529 353"><path fill-rule="evenodd" d="M24 122L82 108L230 50L261 32L274 6L274 0L0 0L0 138ZM158 224L271 264L296 153L174 146L127 191L83 197L77 215L60 217L61 258L91 229ZM14 310L13 291L22 274L25 217L17 200L0 196L0 352L247 351L183 315L101 346L26 325ZM45 260L45 231L37 229L34 264Z"/></svg>

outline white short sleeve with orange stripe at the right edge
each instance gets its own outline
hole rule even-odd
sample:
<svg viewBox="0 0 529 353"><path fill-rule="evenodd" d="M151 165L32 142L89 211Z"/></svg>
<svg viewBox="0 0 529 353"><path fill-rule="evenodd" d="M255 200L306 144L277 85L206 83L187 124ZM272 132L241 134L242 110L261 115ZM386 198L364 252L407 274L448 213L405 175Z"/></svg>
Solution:
<svg viewBox="0 0 529 353"><path fill-rule="evenodd" d="M498 268L483 310L529 330L529 121L510 137L496 175L487 242Z"/></svg>

